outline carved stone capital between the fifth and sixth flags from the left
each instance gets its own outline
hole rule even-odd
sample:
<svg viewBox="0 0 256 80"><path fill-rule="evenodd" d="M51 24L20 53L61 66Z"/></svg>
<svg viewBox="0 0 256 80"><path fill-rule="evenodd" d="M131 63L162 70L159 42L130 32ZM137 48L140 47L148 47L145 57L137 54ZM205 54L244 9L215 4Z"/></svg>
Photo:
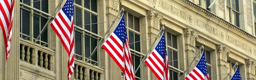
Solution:
<svg viewBox="0 0 256 80"><path fill-rule="evenodd" d="M230 49L227 49L227 47L225 47L223 44L218 45L217 49L218 49L219 53L221 54L220 59L224 62L227 62L226 58L230 52Z"/></svg>

